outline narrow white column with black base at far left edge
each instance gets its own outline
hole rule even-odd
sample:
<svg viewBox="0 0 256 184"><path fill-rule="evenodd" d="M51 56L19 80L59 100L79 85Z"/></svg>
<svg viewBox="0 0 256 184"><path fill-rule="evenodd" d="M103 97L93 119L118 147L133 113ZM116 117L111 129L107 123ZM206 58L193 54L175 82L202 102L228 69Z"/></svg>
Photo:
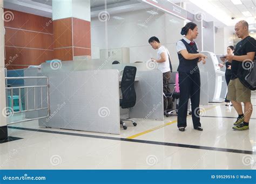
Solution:
<svg viewBox="0 0 256 184"><path fill-rule="evenodd" d="M4 140L8 137L7 134L7 124L5 107L6 107L6 97L5 97L5 71L4 71L4 20L2 15L4 13L3 0L0 0L0 140Z"/></svg>

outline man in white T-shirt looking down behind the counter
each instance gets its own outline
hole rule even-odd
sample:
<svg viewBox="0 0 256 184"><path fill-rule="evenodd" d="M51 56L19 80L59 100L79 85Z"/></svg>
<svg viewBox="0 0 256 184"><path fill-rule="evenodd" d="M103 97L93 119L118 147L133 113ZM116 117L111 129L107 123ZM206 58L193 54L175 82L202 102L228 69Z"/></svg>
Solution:
<svg viewBox="0 0 256 184"><path fill-rule="evenodd" d="M157 62L157 69L163 73L163 92L171 93L170 84L171 83L171 71L172 65L170 60L169 51L160 44L160 41L157 37L153 36L149 39L149 44L153 49L157 51L157 59L151 58L152 62ZM167 109L167 106L172 109L172 99L164 97L164 111Z"/></svg>

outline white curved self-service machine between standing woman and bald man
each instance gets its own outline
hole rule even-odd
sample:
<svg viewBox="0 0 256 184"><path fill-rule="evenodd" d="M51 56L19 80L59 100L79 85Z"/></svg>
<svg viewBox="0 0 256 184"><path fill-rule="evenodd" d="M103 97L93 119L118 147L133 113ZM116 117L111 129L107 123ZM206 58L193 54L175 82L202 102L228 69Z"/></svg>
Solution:
<svg viewBox="0 0 256 184"><path fill-rule="evenodd" d="M201 53L207 56L206 64L198 66L200 71L208 73L208 100L209 102L223 102L224 99L220 99L220 93L225 72L220 70L218 59L213 52L202 51Z"/></svg>

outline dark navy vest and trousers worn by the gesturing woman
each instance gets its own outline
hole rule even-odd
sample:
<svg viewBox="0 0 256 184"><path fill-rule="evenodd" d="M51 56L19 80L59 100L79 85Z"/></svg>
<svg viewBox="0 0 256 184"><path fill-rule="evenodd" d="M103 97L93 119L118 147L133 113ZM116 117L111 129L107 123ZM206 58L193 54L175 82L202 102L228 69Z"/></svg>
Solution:
<svg viewBox="0 0 256 184"><path fill-rule="evenodd" d="M196 43L188 44L184 39L181 42L186 46L188 53L199 53ZM185 59L180 53L179 57L179 88L180 98L178 107L178 127L187 126L187 104L191 99L192 120L194 128L200 127L199 102L200 102L200 73L198 68L198 59Z"/></svg>

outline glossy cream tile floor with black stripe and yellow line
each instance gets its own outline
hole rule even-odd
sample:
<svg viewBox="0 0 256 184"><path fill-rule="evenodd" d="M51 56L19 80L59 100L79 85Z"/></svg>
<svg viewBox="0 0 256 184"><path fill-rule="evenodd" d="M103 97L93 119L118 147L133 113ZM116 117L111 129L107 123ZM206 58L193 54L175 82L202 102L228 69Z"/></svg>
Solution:
<svg viewBox="0 0 256 184"><path fill-rule="evenodd" d="M253 93L253 107L256 105L255 98ZM187 117L186 131L179 132L176 116L164 121L137 119L137 127L127 124L127 130L122 130L120 135L43 128L38 127L37 121L14 124L8 129L9 136L23 139L0 144L0 168L255 169L255 109L250 130L233 131L233 122L237 117L233 107L212 103L202 108L205 110L201 117L203 132L193 130L191 117ZM33 131L14 127L31 128ZM161 145L163 142L172 145ZM243 151L251 154L244 154Z"/></svg>

